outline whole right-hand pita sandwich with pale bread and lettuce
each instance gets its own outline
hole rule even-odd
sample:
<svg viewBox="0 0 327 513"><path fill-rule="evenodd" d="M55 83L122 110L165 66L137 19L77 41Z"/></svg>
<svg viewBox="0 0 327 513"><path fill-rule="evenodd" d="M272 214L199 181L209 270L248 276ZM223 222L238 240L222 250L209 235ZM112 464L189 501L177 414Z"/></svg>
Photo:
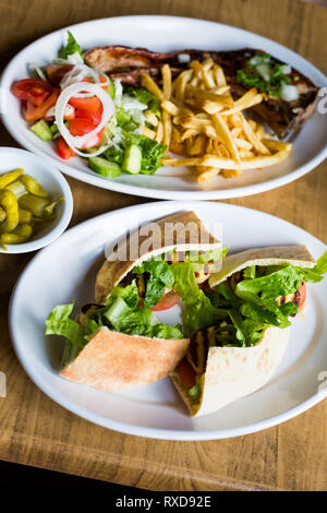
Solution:
<svg viewBox="0 0 327 513"><path fill-rule="evenodd" d="M304 307L305 283L327 272L305 246L256 248L227 256L205 295L220 320L191 333L170 377L192 416L217 411L261 389L286 351L290 319Z"/></svg>

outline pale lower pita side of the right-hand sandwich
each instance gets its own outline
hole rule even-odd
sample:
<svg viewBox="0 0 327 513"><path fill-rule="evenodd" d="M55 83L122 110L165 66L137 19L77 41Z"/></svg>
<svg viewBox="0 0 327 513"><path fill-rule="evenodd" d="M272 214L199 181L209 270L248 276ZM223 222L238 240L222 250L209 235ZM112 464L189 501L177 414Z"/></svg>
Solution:
<svg viewBox="0 0 327 513"><path fill-rule="evenodd" d="M198 403L192 401L175 371L170 378L193 417L218 411L270 380L284 355L289 336L290 327L270 326L256 346L210 347Z"/></svg>

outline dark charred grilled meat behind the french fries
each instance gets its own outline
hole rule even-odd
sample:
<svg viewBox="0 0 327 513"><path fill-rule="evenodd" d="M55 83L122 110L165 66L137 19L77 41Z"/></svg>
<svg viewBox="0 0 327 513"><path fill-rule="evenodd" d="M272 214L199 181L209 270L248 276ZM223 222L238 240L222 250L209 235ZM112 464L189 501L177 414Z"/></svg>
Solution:
<svg viewBox="0 0 327 513"><path fill-rule="evenodd" d="M112 80L119 79L123 84L140 86L141 71L148 73L160 83L160 68L165 62L170 64L172 76L177 76L189 67L191 60L203 61L211 58L223 69L232 95L240 97L252 86L240 82L238 70L245 70L249 59L263 53L263 50L252 48L233 51L186 49L160 53L144 48L108 46L89 50L85 60L93 68L108 73ZM274 62L282 64L275 58ZM280 97L266 95L264 102L252 107L252 110L269 124L279 139L299 130L301 124L314 112L317 102L318 87L310 79L294 69L289 77L300 93L296 99L286 102Z"/></svg>

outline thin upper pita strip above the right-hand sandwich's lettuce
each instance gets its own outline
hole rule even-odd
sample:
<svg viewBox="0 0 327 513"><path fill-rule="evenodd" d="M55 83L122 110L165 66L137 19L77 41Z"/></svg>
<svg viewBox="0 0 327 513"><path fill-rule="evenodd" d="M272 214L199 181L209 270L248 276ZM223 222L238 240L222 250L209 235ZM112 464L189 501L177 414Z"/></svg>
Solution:
<svg viewBox="0 0 327 513"><path fill-rule="evenodd" d="M315 260L304 244L253 248L227 256L222 269L209 277L209 286L213 288L233 273L251 265L279 265L283 263L311 269L314 267Z"/></svg>

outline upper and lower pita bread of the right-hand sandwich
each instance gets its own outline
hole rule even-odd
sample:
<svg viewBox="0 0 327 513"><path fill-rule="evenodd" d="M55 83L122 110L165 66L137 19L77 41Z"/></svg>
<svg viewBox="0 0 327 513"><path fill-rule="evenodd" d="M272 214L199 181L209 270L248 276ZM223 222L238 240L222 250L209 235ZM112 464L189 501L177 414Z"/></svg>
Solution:
<svg viewBox="0 0 327 513"><path fill-rule="evenodd" d="M227 256L219 273L210 276L215 287L233 273L251 265L288 263L313 267L314 258L306 246L255 248ZM279 366L286 351L290 329L268 327L259 344L252 347L210 347L206 370L202 375L199 402L189 395L187 386L173 371L172 382L193 416L217 411L227 404L252 394L265 385Z"/></svg>

